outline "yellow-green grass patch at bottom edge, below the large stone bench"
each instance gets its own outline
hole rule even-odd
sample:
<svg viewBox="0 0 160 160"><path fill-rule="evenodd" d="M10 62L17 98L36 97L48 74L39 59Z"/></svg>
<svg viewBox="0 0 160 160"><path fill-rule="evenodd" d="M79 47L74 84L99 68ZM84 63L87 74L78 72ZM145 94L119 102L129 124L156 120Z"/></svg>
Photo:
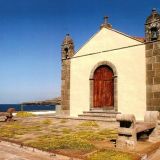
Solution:
<svg viewBox="0 0 160 160"><path fill-rule="evenodd" d="M133 156L124 152L103 150L92 154L87 160L133 160Z"/></svg>

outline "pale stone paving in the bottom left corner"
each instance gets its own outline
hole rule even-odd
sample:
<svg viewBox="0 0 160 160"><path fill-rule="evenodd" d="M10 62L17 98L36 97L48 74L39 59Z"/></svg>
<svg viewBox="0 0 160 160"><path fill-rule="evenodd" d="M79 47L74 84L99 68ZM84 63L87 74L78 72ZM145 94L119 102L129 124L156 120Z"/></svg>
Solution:
<svg viewBox="0 0 160 160"><path fill-rule="evenodd" d="M0 160L79 160L0 141Z"/></svg>

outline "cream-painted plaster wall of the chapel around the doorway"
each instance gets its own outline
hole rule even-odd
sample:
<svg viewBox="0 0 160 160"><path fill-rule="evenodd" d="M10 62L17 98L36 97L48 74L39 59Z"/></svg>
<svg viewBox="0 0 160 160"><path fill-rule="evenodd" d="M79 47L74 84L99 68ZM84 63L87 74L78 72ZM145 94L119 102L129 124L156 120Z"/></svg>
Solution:
<svg viewBox="0 0 160 160"><path fill-rule="evenodd" d="M141 44L141 42L116 31L103 28L74 57L137 44ZM72 59L70 89L71 116L77 116L83 111L89 111L89 77L94 66L102 61L111 62L117 70L118 111L121 113L135 114L137 119L143 119L146 110L144 45Z"/></svg>

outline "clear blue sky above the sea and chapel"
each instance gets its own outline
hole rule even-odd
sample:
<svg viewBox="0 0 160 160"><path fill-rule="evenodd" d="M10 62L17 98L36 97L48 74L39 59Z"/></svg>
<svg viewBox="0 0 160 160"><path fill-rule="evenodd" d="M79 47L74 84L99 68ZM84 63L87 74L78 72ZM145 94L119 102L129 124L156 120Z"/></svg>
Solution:
<svg viewBox="0 0 160 160"><path fill-rule="evenodd" d="M160 0L0 0L0 103L60 95L61 43L75 49L99 30L105 15L113 28L144 36L144 23Z"/></svg>

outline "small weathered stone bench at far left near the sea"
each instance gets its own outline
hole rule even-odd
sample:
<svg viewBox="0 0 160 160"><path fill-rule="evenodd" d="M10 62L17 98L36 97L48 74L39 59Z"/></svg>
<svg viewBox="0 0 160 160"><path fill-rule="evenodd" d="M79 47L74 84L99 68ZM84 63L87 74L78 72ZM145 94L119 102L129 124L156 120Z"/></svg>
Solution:
<svg viewBox="0 0 160 160"><path fill-rule="evenodd" d="M0 121L12 121L13 120L13 112L15 112L15 108L9 108L6 112L0 112Z"/></svg>

